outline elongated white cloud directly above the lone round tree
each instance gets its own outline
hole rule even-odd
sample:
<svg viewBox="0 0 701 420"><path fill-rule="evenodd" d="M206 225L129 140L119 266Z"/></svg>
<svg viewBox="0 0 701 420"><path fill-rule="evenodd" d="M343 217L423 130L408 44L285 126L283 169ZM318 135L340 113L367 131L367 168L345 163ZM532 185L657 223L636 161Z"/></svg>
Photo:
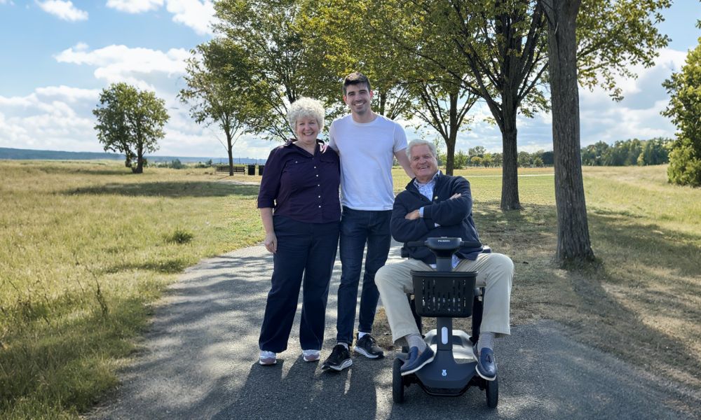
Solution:
<svg viewBox="0 0 701 420"><path fill-rule="evenodd" d="M63 50L55 56L58 62L95 66L95 77L107 83L126 82L144 87L144 76L165 73L177 77L184 73L185 59L189 51L171 48L167 52L149 48L129 48L125 45L109 45L90 51L88 45L78 45ZM152 88L151 88L152 90Z"/></svg>

